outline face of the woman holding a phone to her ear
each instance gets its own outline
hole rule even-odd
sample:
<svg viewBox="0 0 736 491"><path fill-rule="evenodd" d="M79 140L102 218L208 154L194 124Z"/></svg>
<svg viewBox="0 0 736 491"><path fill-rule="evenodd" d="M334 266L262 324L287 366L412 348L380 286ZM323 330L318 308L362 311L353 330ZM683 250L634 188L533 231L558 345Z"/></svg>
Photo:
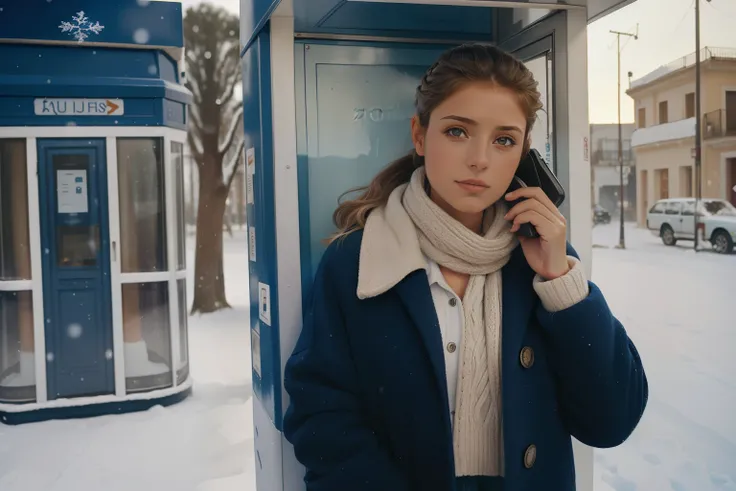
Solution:
<svg viewBox="0 0 736 491"><path fill-rule="evenodd" d="M510 89L470 83L432 112L429 125L412 120L424 157L431 198L463 223L473 223L506 192L524 148L526 117Z"/></svg>

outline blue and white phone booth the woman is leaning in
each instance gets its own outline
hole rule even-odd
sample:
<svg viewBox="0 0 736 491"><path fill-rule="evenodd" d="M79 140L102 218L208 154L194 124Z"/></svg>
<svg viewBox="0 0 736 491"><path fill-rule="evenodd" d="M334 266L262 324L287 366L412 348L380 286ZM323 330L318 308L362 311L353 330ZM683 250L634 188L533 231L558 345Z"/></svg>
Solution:
<svg viewBox="0 0 736 491"><path fill-rule="evenodd" d="M447 47L494 42L539 81L535 148L591 266L587 24L631 0L242 0L251 347L259 491L304 489L284 439L283 367L344 191L411 149L414 91ZM256 256L255 251L258 251ZM578 489L593 452L575 442Z"/></svg>

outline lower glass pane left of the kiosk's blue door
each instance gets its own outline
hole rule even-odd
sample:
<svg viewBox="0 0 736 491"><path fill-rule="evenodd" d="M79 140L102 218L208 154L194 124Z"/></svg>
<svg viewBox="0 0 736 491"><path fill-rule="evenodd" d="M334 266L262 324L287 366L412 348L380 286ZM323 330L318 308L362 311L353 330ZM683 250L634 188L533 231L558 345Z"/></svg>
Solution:
<svg viewBox="0 0 736 491"><path fill-rule="evenodd" d="M33 295L0 291L0 402L36 400Z"/></svg>

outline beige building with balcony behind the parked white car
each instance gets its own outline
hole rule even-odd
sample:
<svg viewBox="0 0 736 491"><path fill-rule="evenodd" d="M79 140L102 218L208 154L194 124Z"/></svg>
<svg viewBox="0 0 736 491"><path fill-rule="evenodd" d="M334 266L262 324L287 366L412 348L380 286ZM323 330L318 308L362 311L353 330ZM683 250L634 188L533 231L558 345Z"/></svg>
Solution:
<svg viewBox="0 0 736 491"><path fill-rule="evenodd" d="M702 196L736 204L736 48L701 53ZM695 193L695 53L634 80L637 222L659 199Z"/></svg>

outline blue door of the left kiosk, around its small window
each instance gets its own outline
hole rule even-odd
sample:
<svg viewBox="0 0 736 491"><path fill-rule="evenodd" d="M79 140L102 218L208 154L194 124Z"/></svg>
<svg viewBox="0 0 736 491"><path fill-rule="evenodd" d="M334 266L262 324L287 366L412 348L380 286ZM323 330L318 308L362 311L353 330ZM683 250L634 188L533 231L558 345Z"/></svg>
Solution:
<svg viewBox="0 0 736 491"><path fill-rule="evenodd" d="M54 354L46 364L47 393L50 400L58 397L69 397L74 395L98 395L110 394L115 391L114 362L112 357L105 357L105 352L113 352L112 338L112 299L110 286L110 233L107 201L107 169L105 139L39 139L38 140L38 175L39 175L39 208L41 218L41 248L43 251L43 299L44 319L46 322L45 338L46 351ZM56 176L50 157L59 154L87 154L90 156L87 170L88 180L88 203L87 217L80 217L81 224L99 224L99 250L97 254L97 265L95 267L68 267L57 266L57 239L56 226L57 198L56 198ZM95 206L95 201L97 205ZM93 288L90 288L92 286ZM59 371L59 363L64 357L55 354L59 346L59 338L66 335L63 331L65 326L61 325L60 306L58 292L69 290L97 290L94 297L95 314L97 315L95 329L98 334L93 338L100 345L85 348L85 351L97 353L100 364L96 380L93 374L86 373L82 377L87 378L87 384L96 382L98 388L90 393L66 393L69 392L62 384L62 375ZM80 302L82 303L82 302ZM84 307L84 305L80 305ZM87 307L89 308L89 306ZM81 378L81 377L80 377ZM84 381L80 382L84 384Z"/></svg>

